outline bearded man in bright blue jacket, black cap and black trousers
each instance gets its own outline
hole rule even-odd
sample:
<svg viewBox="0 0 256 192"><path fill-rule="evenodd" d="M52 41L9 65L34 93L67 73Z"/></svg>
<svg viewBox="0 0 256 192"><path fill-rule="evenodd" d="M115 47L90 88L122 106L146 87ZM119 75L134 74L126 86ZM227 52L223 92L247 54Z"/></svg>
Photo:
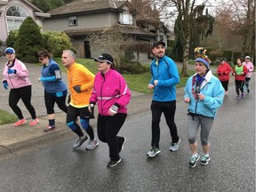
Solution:
<svg viewBox="0 0 256 192"><path fill-rule="evenodd" d="M175 62L164 55L165 44L163 41L157 41L153 44L152 52L155 59L151 63L152 79L148 84L149 90L154 90L153 100L151 103L152 113L152 140L151 150L147 156L153 157L160 153L160 119L162 113L166 123L170 129L172 142L171 151L179 148L180 138L178 136L177 127L174 122L176 110L176 84L180 83L180 76Z"/></svg>

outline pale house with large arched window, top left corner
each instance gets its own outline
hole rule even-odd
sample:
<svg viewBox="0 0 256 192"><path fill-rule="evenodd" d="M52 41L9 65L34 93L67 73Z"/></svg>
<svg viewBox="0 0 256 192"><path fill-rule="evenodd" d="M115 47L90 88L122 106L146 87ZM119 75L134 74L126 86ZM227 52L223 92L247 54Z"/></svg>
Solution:
<svg viewBox="0 0 256 192"><path fill-rule="evenodd" d="M4 44L9 32L19 29L28 16L42 26L42 20L50 17L50 14L42 12L28 0L0 0L0 39Z"/></svg>

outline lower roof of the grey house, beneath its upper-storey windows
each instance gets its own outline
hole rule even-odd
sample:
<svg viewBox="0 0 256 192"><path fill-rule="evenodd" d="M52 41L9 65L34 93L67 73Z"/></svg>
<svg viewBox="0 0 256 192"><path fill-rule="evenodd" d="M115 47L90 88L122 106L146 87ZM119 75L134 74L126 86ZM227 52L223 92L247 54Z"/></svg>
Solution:
<svg viewBox="0 0 256 192"><path fill-rule="evenodd" d="M131 35L131 36L156 36L155 33L152 33L148 30L145 30L143 28L140 28L138 26L130 26L130 25L120 25L116 23L116 25L110 27L110 28L83 28L83 29L71 29L71 30L65 30L64 32L73 38L81 37L81 36L87 36L94 33L113 33L115 31Z"/></svg>

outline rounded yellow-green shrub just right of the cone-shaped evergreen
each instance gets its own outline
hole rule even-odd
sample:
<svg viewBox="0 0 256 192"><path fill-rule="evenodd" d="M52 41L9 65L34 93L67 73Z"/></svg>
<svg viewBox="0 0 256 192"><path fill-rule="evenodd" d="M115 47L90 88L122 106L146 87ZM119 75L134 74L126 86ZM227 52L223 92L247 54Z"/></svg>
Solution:
<svg viewBox="0 0 256 192"><path fill-rule="evenodd" d="M74 50L70 38L64 32L44 31L44 49L52 53L54 57L61 57L63 50Z"/></svg>

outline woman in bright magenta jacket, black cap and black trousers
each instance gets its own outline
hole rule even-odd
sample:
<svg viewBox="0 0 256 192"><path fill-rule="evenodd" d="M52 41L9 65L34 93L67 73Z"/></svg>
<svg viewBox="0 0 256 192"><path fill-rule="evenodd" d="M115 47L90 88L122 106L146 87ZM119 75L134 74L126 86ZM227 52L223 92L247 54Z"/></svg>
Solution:
<svg viewBox="0 0 256 192"><path fill-rule="evenodd" d="M119 153L124 148L125 137L117 136L117 133L127 116L126 105L131 99L131 93L124 77L114 70L114 60L110 54L102 53L94 60L98 61L99 73L94 79L89 107L92 111L98 102L98 137L102 142L108 143L108 167L114 167L121 162Z"/></svg>

